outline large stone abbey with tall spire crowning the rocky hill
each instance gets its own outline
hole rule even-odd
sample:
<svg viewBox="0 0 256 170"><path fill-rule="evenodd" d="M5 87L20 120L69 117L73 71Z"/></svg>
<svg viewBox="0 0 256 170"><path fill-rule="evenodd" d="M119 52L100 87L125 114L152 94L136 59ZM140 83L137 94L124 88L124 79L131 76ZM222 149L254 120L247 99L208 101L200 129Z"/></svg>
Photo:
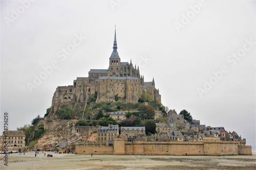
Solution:
<svg viewBox="0 0 256 170"><path fill-rule="evenodd" d="M132 60L130 63L121 62L117 52L116 29L109 68L90 69L89 77L78 77L70 86L58 86L53 96L53 105L87 102L93 96L97 98L96 102L116 102L118 99L126 103L137 103L139 98L145 100L150 96L152 100L161 103L154 78L152 82L144 82L139 66L133 66Z"/></svg>

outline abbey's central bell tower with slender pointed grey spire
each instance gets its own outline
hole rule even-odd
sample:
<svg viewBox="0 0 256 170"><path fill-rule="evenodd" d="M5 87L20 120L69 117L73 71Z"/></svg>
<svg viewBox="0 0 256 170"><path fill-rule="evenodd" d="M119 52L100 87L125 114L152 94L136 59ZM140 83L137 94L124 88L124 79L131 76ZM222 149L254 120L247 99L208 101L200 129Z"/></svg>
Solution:
<svg viewBox="0 0 256 170"><path fill-rule="evenodd" d="M116 26L115 26L114 46L113 46L113 52L110 56L108 76L120 77L120 71L121 71L121 64L120 64L120 57L117 52Z"/></svg>

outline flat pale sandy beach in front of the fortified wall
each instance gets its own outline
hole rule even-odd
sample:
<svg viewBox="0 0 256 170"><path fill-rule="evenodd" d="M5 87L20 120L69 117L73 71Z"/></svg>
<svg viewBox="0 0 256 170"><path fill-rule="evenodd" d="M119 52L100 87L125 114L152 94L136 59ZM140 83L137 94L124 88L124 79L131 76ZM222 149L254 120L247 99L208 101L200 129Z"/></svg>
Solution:
<svg viewBox="0 0 256 170"><path fill-rule="evenodd" d="M256 169L251 156L148 156L148 155L75 155L29 152L8 155L8 166L1 154L1 169Z"/></svg>

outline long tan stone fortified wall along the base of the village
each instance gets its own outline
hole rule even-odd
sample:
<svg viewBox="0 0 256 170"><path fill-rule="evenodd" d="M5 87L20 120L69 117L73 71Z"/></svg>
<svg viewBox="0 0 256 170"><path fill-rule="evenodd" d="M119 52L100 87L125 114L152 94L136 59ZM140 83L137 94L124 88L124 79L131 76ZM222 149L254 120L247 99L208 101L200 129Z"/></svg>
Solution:
<svg viewBox="0 0 256 170"><path fill-rule="evenodd" d="M112 147L101 143L82 143L76 145L75 152L109 155L252 155L250 146L240 145L240 141L221 141L219 138L204 138L202 142L125 141L117 138Z"/></svg>

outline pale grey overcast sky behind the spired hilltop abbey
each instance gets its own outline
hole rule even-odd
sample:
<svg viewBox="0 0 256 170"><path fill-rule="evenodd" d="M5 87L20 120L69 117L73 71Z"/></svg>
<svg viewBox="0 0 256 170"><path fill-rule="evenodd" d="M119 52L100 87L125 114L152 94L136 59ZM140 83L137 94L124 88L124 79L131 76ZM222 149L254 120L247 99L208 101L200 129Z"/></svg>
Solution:
<svg viewBox="0 0 256 170"><path fill-rule="evenodd" d="M164 106L255 145L255 1L1 1L1 131L5 111L16 130L57 86L107 69L114 25Z"/></svg>

